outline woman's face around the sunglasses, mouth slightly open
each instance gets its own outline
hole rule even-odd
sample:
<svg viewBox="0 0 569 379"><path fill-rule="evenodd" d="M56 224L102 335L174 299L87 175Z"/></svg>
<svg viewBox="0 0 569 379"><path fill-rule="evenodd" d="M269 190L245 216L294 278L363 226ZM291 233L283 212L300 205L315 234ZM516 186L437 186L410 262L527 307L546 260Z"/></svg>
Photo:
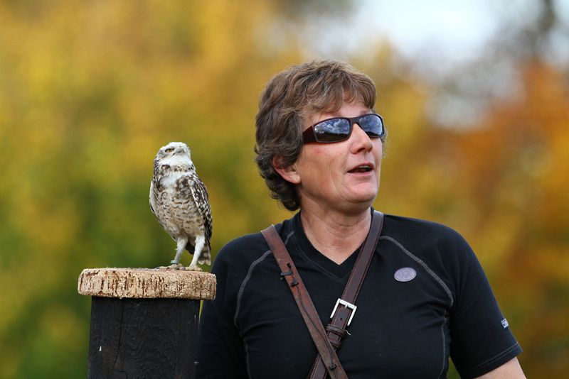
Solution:
<svg viewBox="0 0 569 379"><path fill-rule="evenodd" d="M344 102L338 111L314 114L307 125L368 113L371 109L360 101ZM378 193L382 151L380 138L369 138L354 124L345 141L305 144L285 179L297 185L301 209L316 206L344 213L361 212L371 207Z"/></svg>

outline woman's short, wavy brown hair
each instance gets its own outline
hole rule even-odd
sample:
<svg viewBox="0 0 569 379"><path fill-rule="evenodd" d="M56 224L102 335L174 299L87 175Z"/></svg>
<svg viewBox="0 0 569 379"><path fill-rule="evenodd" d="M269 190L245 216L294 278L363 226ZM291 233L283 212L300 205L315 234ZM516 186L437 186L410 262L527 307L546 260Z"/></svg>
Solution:
<svg viewBox="0 0 569 379"><path fill-rule="evenodd" d="M271 197L285 208L299 209L299 196L294 185L275 170L273 158L280 167L296 162L304 123L315 113L339 110L344 101L361 101L374 109L376 86L368 75L337 60L289 67L272 77L262 92L255 120L255 161Z"/></svg>

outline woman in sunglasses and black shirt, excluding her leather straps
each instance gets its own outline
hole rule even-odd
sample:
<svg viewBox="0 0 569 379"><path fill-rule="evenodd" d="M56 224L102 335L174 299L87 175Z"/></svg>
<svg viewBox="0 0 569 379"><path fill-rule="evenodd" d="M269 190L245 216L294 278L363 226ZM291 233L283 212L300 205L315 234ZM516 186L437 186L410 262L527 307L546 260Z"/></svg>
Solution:
<svg viewBox="0 0 569 379"><path fill-rule="evenodd" d="M292 219L276 226L322 324L368 235L385 129L372 80L343 62L273 77L257 114L257 165ZM216 258L198 378L306 378L317 348L260 233ZM283 275L285 275L283 273ZM521 352L474 253L440 224L386 215L337 351L349 378L523 378Z"/></svg>

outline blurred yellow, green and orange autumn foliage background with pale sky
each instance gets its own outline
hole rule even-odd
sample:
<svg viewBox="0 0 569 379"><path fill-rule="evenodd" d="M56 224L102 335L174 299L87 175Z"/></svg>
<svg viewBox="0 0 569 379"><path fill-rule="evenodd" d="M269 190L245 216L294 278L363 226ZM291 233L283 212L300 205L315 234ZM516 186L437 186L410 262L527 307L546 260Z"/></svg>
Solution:
<svg viewBox="0 0 569 379"><path fill-rule="evenodd" d="M252 160L257 99L323 57L378 86L376 208L462 233L528 378L568 378L567 0L0 1L0 378L84 378L81 270L172 258L148 205L169 141L213 251L288 218Z"/></svg>

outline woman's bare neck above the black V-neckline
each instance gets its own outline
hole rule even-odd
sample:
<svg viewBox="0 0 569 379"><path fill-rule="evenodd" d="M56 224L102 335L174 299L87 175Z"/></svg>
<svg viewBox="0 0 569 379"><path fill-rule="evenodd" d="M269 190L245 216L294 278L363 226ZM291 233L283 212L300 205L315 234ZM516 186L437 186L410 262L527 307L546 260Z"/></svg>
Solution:
<svg viewBox="0 0 569 379"><path fill-rule="evenodd" d="M300 219L312 246L326 258L341 264L366 240L371 225L370 209L356 214L331 209L302 208Z"/></svg>

